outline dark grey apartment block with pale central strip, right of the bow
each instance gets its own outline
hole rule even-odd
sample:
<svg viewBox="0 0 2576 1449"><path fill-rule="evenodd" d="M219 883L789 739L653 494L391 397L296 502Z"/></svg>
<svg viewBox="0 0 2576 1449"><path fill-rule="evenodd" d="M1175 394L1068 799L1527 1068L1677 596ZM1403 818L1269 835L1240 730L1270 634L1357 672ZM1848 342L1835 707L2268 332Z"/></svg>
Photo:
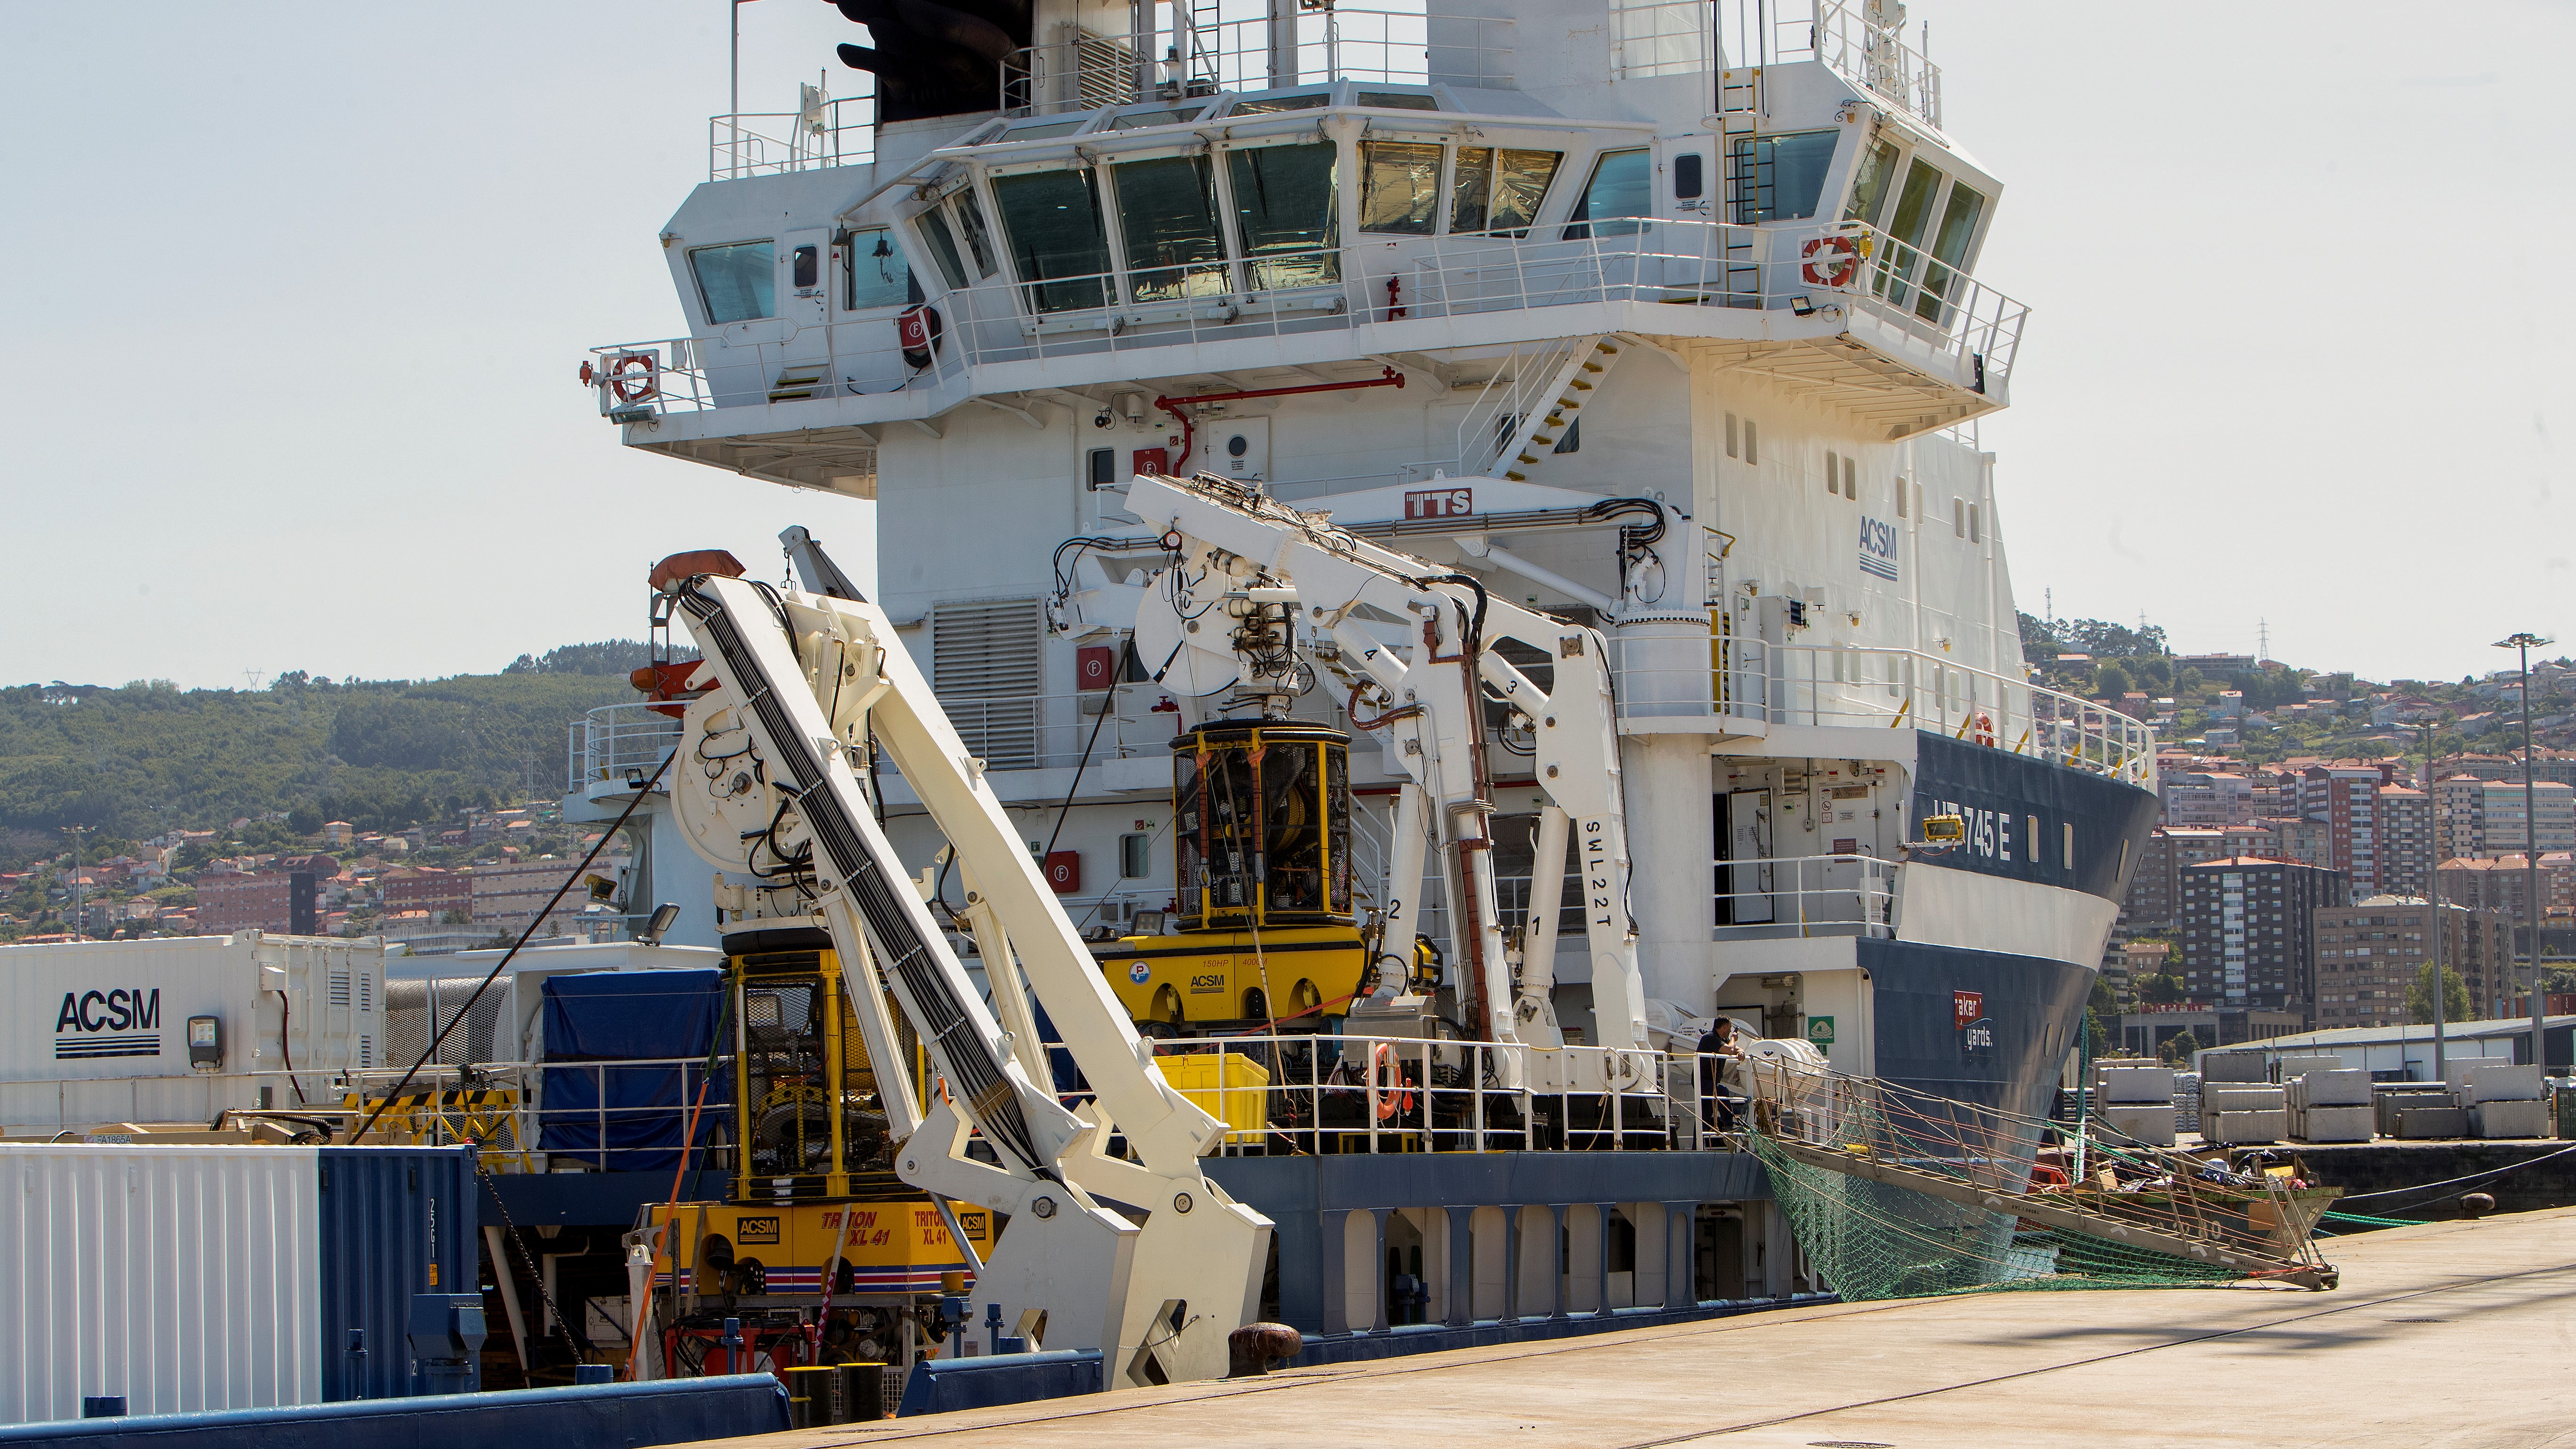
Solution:
<svg viewBox="0 0 2576 1449"><path fill-rule="evenodd" d="M2228 856L2182 869L2182 987L2228 1008L2311 1011L2321 905L2352 900L2344 871Z"/></svg>

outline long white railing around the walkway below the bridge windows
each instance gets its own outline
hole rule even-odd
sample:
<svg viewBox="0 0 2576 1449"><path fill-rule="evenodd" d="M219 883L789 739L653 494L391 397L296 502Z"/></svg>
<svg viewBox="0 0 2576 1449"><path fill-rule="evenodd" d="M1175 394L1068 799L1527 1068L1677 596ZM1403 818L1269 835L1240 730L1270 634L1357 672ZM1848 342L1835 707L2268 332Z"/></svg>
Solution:
<svg viewBox="0 0 2576 1449"><path fill-rule="evenodd" d="M1808 253L1808 242L1821 242L1824 250ZM1270 286L1285 276L1301 284ZM600 415L636 420L827 392L873 394L958 379L976 384L981 379L971 371L984 366L1110 361L1149 348L1352 333L1388 322L1533 312L1530 335L1623 325L1677 333L1690 330L1690 307L1839 307L1847 327L1865 320L1886 348L1914 348L1914 366L1950 371L1947 382L1958 387L1989 389L2009 376L2027 320L2020 302L1857 222L1744 227L1615 219L1538 227L1517 240L1373 240L1236 260L1218 268L1216 278L1229 291L1151 304L1110 302L1131 297L1133 278L1126 273L989 281L945 291L933 304L940 340L925 369L904 361L891 309L806 327L773 317L726 325L716 338L592 348L590 366ZM1654 312L1548 317L1556 307L1623 304ZM806 382L783 387L788 374ZM822 382L814 382L817 374ZM1110 361L1100 376L1136 374Z"/></svg>

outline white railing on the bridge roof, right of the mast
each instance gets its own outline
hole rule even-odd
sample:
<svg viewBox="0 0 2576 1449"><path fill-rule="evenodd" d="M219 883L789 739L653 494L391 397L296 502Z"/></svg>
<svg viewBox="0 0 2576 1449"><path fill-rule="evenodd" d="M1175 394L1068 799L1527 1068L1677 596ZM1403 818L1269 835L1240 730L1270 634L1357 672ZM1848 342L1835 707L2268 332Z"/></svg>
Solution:
<svg viewBox="0 0 2576 1449"><path fill-rule="evenodd" d="M1888 106L1940 126L1940 67L1850 0L1613 0L1623 80L1821 62ZM1754 101L1749 88L1728 98Z"/></svg>

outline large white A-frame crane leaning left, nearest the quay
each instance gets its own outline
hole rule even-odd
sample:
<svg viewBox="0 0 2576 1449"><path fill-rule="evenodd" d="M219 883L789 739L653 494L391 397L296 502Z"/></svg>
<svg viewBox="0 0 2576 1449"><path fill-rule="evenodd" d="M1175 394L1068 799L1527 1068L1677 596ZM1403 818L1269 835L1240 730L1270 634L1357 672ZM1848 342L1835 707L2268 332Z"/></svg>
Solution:
<svg viewBox="0 0 2576 1449"><path fill-rule="evenodd" d="M672 786L690 843L739 871L752 841L809 853L809 910L845 962L896 1173L943 1212L963 1199L1010 1217L974 1297L1046 1348L1100 1348L1110 1387L1224 1377L1226 1336L1257 1315L1270 1243L1270 1220L1198 1165L1224 1124L1154 1067L884 608L817 565L811 539L791 552L814 593L747 580L716 552L654 570L706 657L688 681L706 694L685 709ZM860 794L871 740L966 869L992 1008ZM927 1114L889 993L938 1075ZM1059 1101L1030 993L1092 1101ZM1110 1132L1128 1155L1108 1155ZM969 1155L976 1137L992 1160Z"/></svg>

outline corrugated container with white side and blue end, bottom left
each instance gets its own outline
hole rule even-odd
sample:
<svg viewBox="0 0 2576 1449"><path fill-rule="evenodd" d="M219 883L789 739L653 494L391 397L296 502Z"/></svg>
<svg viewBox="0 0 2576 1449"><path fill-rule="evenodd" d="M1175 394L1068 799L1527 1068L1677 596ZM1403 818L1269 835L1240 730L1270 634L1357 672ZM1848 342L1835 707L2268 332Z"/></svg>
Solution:
<svg viewBox="0 0 2576 1449"><path fill-rule="evenodd" d="M471 1147L0 1145L0 1423L420 1392L471 1292Z"/></svg>

